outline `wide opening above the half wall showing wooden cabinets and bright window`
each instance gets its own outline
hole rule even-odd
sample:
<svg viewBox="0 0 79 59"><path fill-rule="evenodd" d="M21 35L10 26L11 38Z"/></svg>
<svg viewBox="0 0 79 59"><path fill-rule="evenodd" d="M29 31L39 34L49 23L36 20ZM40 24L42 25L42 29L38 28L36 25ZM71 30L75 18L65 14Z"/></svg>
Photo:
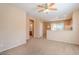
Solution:
<svg viewBox="0 0 79 59"><path fill-rule="evenodd" d="M46 29L53 31L72 30L72 19L62 21L46 22Z"/></svg>

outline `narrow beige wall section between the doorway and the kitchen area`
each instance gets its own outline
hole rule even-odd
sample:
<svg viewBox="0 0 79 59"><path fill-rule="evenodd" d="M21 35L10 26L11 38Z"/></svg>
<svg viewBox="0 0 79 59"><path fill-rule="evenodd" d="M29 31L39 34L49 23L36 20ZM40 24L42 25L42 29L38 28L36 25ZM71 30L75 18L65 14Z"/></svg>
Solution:
<svg viewBox="0 0 79 59"><path fill-rule="evenodd" d="M43 35L43 23L39 20L39 19L35 19L35 35L34 35L34 37L35 38L40 38L40 37L42 37L42 35Z"/></svg>

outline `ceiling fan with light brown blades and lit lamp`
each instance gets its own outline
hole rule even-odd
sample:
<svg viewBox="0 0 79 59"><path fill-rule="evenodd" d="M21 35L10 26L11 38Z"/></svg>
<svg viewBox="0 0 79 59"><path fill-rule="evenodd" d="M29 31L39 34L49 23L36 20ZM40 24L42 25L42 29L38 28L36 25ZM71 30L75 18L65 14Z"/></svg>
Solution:
<svg viewBox="0 0 79 59"><path fill-rule="evenodd" d="M38 12L49 12L57 10L55 3L44 3L37 5Z"/></svg>

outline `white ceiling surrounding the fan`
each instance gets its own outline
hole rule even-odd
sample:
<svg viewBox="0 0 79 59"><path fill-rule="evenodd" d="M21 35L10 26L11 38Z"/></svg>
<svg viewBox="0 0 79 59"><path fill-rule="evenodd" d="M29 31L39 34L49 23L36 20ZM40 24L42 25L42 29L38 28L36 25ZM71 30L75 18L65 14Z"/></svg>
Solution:
<svg viewBox="0 0 79 59"><path fill-rule="evenodd" d="M37 5L41 3L14 3L12 5L25 10L29 16L44 21L54 21L70 18L72 12L79 8L78 3L56 3L57 10L49 13L38 12Z"/></svg>

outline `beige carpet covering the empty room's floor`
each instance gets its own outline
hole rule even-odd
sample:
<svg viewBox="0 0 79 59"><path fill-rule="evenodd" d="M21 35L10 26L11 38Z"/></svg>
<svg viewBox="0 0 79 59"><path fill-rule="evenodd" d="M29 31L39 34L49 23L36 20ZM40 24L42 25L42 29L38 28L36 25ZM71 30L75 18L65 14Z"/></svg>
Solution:
<svg viewBox="0 0 79 59"><path fill-rule="evenodd" d="M30 39L27 44L1 52L1 55L72 55L79 54L79 46L64 42Z"/></svg>

